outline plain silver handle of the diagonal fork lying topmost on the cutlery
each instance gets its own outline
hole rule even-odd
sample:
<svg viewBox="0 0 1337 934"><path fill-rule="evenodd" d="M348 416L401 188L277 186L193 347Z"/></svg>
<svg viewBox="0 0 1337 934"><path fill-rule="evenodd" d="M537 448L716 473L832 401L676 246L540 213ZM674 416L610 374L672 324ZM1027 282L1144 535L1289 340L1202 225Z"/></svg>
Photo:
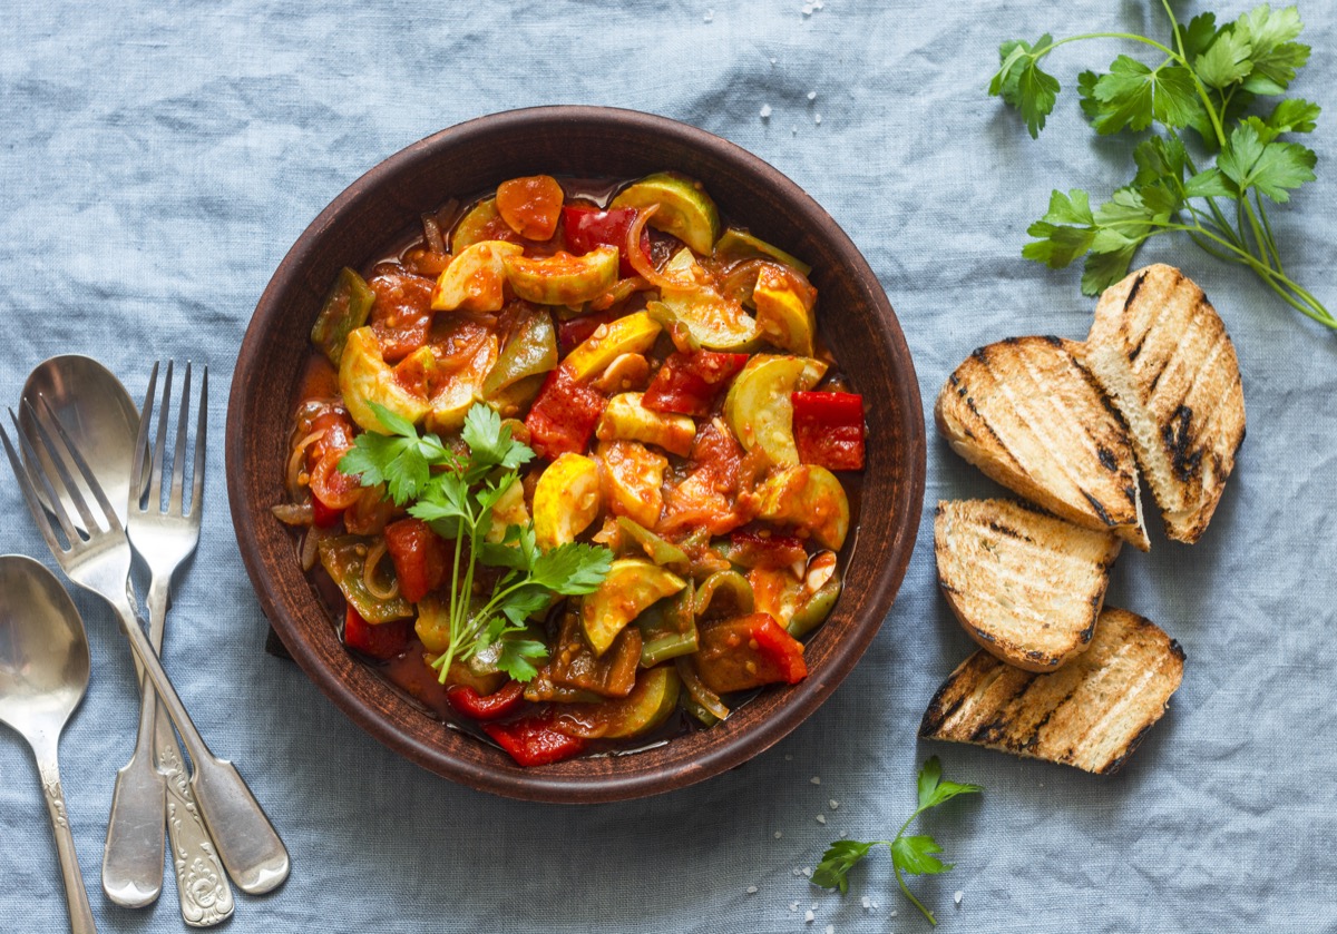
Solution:
<svg viewBox="0 0 1337 934"><path fill-rule="evenodd" d="M180 740L195 766L190 787L227 874L238 889L251 895L277 889L287 878L291 866L283 840L233 763L209 751L205 738L199 735L171 679L158 661L130 601L112 603L131 649L152 681L159 702L176 724Z"/></svg>

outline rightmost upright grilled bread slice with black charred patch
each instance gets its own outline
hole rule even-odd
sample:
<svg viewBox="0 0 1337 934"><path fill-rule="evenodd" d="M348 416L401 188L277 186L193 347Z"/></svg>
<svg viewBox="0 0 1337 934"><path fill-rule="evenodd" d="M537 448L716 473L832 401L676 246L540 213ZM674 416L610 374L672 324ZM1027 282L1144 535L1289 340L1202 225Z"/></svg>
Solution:
<svg viewBox="0 0 1337 934"><path fill-rule="evenodd" d="M1087 362L1123 414L1166 534L1194 542L1245 440L1239 361L1202 289L1147 266L1100 295Z"/></svg>

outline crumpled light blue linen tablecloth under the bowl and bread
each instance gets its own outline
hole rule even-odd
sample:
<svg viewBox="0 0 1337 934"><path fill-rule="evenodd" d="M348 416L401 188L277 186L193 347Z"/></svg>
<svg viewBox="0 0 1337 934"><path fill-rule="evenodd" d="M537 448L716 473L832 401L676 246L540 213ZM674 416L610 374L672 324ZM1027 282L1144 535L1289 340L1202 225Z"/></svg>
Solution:
<svg viewBox="0 0 1337 934"><path fill-rule="evenodd" d="M1246 4L1215 9L1234 19ZM1301 13L1314 53L1294 94L1329 112L1310 140L1320 180L1274 218L1294 278L1332 307L1337 15L1316 0ZM845 898L805 867L837 836L894 834L931 754L987 787L923 822L956 863L912 881L943 930L1337 930L1337 334L1185 241L1140 259L1183 267L1219 309L1249 438L1199 545L1169 544L1151 518L1152 552L1126 549L1115 567L1110 604L1159 623L1189 657L1169 715L1116 776L916 739L933 689L973 648L936 592L932 504L997 493L932 434L920 545L862 663L786 740L685 791L599 807L477 794L394 756L261 651L266 624L226 508L226 389L270 274L365 170L443 127L533 104L631 107L719 134L812 192L864 251L929 418L972 347L1080 339L1090 325L1079 273L1019 250L1051 187L1104 196L1126 178L1128 143L1095 138L1075 87L1082 68L1136 49L1056 53L1064 95L1032 142L984 88L999 41L1047 29L1165 24L1157 4L1092 0L5 4L0 401L15 404L28 370L59 353L102 359L136 398L155 358L211 366L205 528L163 655L294 865L278 893L238 897L231 930L927 930L885 852ZM51 564L0 473L0 552ZM178 931L172 883L143 911L100 893L138 702L110 612L75 599L95 668L62 752L94 911L104 931ZM0 731L0 931L64 926L36 770Z"/></svg>

